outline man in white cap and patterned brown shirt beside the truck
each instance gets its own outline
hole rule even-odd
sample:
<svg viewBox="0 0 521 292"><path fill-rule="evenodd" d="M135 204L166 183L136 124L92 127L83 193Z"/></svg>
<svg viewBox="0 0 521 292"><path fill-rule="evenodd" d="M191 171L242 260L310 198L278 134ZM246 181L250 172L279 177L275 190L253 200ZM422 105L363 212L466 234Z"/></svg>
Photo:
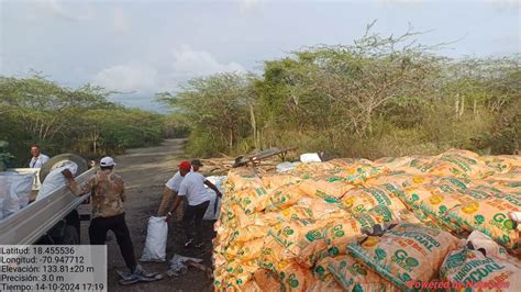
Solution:
<svg viewBox="0 0 521 292"><path fill-rule="evenodd" d="M123 179L113 172L114 159L103 157L100 160L101 171L86 184L78 188L76 181L68 177L70 189L76 195L92 192L92 220L89 226L91 245L104 245L107 232L112 231L120 246L121 255L132 274L144 274L134 256L134 245L125 223L123 202L125 201Z"/></svg>

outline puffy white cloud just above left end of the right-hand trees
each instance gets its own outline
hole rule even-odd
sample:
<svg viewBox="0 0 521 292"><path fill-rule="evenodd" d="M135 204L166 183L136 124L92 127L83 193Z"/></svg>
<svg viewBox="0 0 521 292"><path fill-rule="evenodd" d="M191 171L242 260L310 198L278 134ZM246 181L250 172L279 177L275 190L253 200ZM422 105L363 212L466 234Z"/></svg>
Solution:
<svg viewBox="0 0 521 292"><path fill-rule="evenodd" d="M235 61L219 63L206 50L193 50L189 45L174 49L173 69L180 76L206 76L218 72L245 72L246 69Z"/></svg>

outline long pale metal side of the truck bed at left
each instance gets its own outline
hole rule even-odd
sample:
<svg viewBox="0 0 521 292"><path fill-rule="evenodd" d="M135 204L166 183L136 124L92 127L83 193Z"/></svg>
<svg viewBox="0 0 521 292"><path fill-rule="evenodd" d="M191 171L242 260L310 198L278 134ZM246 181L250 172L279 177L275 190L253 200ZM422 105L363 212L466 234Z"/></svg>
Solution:
<svg viewBox="0 0 521 292"><path fill-rule="evenodd" d="M97 168L76 178L78 184L89 180ZM78 207L90 193L75 196L68 186L55 190L48 196L30 203L15 214L0 221L0 245L31 245L38 240L56 223Z"/></svg>

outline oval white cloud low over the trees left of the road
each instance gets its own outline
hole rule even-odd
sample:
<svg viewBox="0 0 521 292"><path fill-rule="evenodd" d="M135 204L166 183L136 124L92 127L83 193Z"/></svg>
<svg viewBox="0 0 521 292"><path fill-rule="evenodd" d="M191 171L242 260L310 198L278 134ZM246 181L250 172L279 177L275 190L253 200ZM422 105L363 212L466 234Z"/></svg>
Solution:
<svg viewBox="0 0 521 292"><path fill-rule="evenodd" d="M92 82L109 90L148 92L157 86L157 71L143 64L124 64L98 72Z"/></svg>

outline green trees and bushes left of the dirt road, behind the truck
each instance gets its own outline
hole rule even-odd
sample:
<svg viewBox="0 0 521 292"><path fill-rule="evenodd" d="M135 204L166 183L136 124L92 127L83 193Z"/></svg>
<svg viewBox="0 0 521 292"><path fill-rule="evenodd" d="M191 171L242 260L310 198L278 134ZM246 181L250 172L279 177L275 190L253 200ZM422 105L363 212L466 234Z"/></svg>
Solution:
<svg viewBox="0 0 521 292"><path fill-rule="evenodd" d="M14 166L26 164L33 143L49 155L93 158L163 141L165 116L110 102L110 93L90 85L65 88L41 75L0 77L0 141L9 142Z"/></svg>

